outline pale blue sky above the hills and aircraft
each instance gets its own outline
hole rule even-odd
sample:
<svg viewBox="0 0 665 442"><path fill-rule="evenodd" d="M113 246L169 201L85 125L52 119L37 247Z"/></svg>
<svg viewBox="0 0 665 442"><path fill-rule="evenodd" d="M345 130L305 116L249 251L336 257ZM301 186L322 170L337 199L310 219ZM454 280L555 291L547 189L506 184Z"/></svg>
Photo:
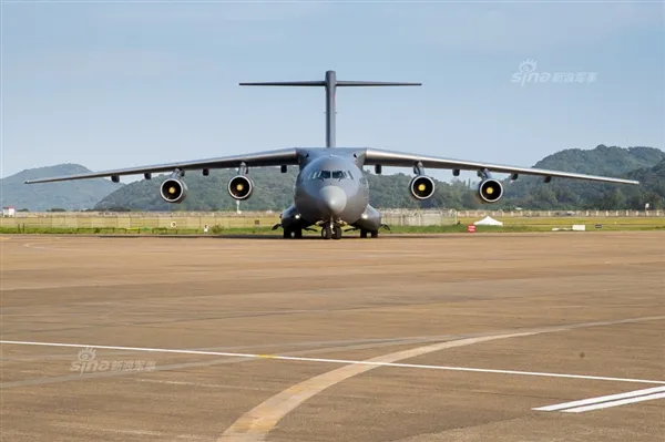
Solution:
<svg viewBox="0 0 665 442"><path fill-rule="evenodd" d="M531 166L562 148L665 147L662 2L2 2L2 176L325 143ZM595 81L513 83L536 72ZM434 176L446 178L446 173ZM472 176L472 175L470 175Z"/></svg>

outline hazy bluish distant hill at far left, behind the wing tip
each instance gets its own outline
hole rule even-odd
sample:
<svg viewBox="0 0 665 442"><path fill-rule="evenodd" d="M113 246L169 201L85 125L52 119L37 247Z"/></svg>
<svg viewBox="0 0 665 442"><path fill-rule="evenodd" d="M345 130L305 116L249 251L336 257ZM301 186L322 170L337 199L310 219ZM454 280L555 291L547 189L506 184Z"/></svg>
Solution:
<svg viewBox="0 0 665 442"><path fill-rule="evenodd" d="M13 206L17 210L28 208L44 212L51 208L80 210L94 206L100 199L113 193L123 184L110 179L81 179L62 183L24 184L25 179L43 178L90 172L79 164L30 168L0 179L2 206Z"/></svg>

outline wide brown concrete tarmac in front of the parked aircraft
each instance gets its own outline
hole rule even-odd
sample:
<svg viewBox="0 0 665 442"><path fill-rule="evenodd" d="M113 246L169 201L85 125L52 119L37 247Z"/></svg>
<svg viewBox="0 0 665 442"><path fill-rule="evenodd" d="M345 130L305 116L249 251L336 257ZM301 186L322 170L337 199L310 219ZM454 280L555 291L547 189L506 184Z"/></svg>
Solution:
<svg viewBox="0 0 665 442"><path fill-rule="evenodd" d="M665 234L2 236L7 441L656 441Z"/></svg>

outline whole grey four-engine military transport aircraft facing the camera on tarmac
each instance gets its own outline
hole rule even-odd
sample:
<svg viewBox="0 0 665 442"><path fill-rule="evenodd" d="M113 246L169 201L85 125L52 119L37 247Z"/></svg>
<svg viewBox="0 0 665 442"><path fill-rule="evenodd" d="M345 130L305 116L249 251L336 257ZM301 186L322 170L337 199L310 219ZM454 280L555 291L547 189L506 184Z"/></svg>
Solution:
<svg viewBox="0 0 665 442"><path fill-rule="evenodd" d="M428 155L392 152L372 147L337 147L335 142L335 116L337 88L347 86L419 86L421 83L339 81L335 71L327 71L323 81L288 81L239 83L258 86L323 86L326 90L326 147L288 147L264 151L246 155L223 156L218 158L185 161L143 167L130 167L115 171L92 172L78 175L59 176L27 181L27 184L47 183L66 179L84 179L110 176L114 183L121 175L143 174L151 179L153 173L171 172L161 187L161 197L168 203L182 203L187 194L183 181L186 171L202 171L204 176L211 168L237 167L238 173L228 182L227 191L236 201L249 198L254 183L248 176L252 167L280 166L286 173L287 166L298 166L299 173L294 188L294 204L280 215L285 238L301 238L304 229L321 227L325 239L341 238L341 228L360 230L360 237L378 237L381 227L381 214L369 205L369 186L362 174L364 166L374 166L377 174L382 166L412 167L415 177L409 183L409 192L416 199L428 199L434 194L434 181L424 173L426 167L452 169L454 176L460 171L477 171L481 182L475 191L483 203L497 203L503 196L501 182L491 173L511 174L511 181L519 175L538 175L549 183L552 177L577 178L606 183L640 184L636 181L604 176L582 175L529 167L504 166L474 161L441 158Z"/></svg>

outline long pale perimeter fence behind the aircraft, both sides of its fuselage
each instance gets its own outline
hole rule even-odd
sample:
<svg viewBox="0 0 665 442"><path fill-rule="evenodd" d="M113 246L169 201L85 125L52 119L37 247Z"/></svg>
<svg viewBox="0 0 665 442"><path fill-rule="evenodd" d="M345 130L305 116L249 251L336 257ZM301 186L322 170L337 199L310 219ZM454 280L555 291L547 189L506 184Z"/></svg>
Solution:
<svg viewBox="0 0 665 442"><path fill-rule="evenodd" d="M454 210L382 210L382 222L391 226L442 226L456 224ZM272 227L279 223L274 212L55 212L17 213L16 217L0 218L2 227L38 228L111 228L111 229L203 229Z"/></svg>

